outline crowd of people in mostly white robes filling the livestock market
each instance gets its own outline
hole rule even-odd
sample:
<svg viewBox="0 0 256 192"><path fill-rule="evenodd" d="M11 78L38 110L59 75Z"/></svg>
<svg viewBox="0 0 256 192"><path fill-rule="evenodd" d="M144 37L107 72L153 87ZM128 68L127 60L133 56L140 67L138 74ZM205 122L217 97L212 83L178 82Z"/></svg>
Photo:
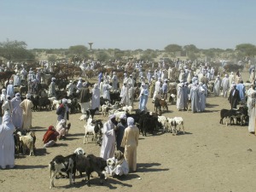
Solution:
<svg viewBox="0 0 256 192"><path fill-rule="evenodd" d="M143 62L133 63L134 70L132 73L124 73L122 80L118 79L115 72L99 73L98 82L90 84L79 78L78 83L70 80L67 84L67 96L77 94L79 96L79 104L81 113L85 113L87 109L100 108L100 99L110 100L111 91L119 91L120 103L123 106L134 105L135 91L138 91L137 99L138 109L147 111L148 97L152 102L156 98L168 100L174 88L176 93L176 108L178 111L187 110L190 102L191 111L193 113L202 113L206 110L207 96L212 91L214 96L223 96L230 102L230 108L237 108L239 104L247 104L248 114L250 117L248 129L255 132L255 74L254 67L250 67L249 81L251 88L246 90L241 73L225 73L215 75L214 68L205 64L192 64L186 61L175 61L175 67L178 69L178 76L175 79L173 73L174 67L167 67L165 62L160 62L158 68L143 71ZM84 66L85 67L85 66ZM90 66L91 67L91 66ZM154 67L154 66L153 66ZM49 67L45 67L48 70ZM124 67L125 68L125 67ZM41 81L40 71L34 74L32 71L26 73L22 68L19 73L14 76L14 80L9 80L6 89L2 90L1 102L3 103L3 122L0 126L0 166L10 168L15 166L15 153L13 148L13 139L11 141L6 138L12 136L13 132L18 129L30 130L32 128L32 101L33 82L37 84ZM21 101L20 93L15 93L14 86L20 84L21 79L26 77L27 83L31 82L31 89L28 90L26 99ZM27 75L27 76L26 76ZM24 76L24 77L23 77ZM23 78L22 78L23 77ZM175 79L175 81L173 81ZM56 96L55 78L51 79L49 84L48 96ZM246 79L244 79L246 80ZM213 84L211 87L211 83ZM119 84L122 84L119 87ZM212 90L211 90L212 89ZM2 111L1 111L2 113ZM96 112L98 113L98 111ZM55 125L49 125L48 130L43 137L44 148L55 146L58 140L67 137L69 128L67 121L69 120L69 110L67 107L67 98L61 99L60 106L56 109L57 121ZM102 147L100 156L105 159L113 159L119 161L123 156L119 166L108 167L108 173L111 175L128 174L128 172L137 171L137 146L139 131L134 125L134 119L126 118L125 114L116 120L115 115L110 115L108 121L103 124L102 129ZM12 158L10 160L10 158Z"/></svg>

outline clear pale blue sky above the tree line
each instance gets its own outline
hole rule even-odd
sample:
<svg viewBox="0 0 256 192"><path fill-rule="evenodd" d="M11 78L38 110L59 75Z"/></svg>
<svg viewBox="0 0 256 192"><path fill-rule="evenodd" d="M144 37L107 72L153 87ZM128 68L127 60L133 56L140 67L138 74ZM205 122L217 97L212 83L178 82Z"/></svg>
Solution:
<svg viewBox="0 0 256 192"><path fill-rule="evenodd" d="M256 44L255 0L0 0L0 42L27 49L235 49Z"/></svg>

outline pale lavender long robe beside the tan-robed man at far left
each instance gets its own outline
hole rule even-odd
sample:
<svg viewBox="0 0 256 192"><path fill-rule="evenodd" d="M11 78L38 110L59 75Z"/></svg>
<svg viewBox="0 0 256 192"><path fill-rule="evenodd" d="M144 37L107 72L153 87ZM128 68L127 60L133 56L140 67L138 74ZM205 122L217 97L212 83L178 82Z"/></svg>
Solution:
<svg viewBox="0 0 256 192"><path fill-rule="evenodd" d="M22 127L22 108L20 108L20 97L13 98L11 100L13 106L12 122L17 128Z"/></svg>

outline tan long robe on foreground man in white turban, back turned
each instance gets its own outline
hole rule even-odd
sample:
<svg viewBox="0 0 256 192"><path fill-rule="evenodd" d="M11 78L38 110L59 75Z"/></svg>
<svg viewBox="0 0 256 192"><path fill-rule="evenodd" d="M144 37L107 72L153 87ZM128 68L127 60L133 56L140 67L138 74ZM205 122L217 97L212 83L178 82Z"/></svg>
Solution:
<svg viewBox="0 0 256 192"><path fill-rule="evenodd" d="M124 137L121 143L125 147L125 160L128 163L129 169L133 172L137 171L137 146L139 138L139 129L137 126L129 125L124 132Z"/></svg>

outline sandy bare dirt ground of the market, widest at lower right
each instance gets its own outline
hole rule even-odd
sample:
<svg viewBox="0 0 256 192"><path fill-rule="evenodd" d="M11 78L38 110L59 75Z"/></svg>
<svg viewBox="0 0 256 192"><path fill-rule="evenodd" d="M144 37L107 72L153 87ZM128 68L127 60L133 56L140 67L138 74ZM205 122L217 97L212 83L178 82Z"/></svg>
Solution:
<svg viewBox="0 0 256 192"><path fill-rule="evenodd" d="M247 79L248 73L242 73ZM137 106L137 103L136 103ZM148 108L152 111L151 99ZM185 134L159 132L140 135L137 148L137 172L125 177L108 177L101 185L98 177L91 179L89 188L76 177L73 186L65 178L55 180L52 191L255 191L256 137L247 126L220 125L219 110L230 108L227 98L208 96L204 113L178 112L169 105L166 117L181 116ZM83 143L84 122L80 113L72 114L71 131L67 140L58 146L43 148L42 138L49 125L55 125L55 111L33 113L32 125L36 131L36 156L20 155L15 169L0 170L1 191L49 191L49 161L55 155L73 153L84 148L87 154L100 154L94 143ZM96 115L96 119L102 118ZM225 122L225 120L224 120Z"/></svg>

